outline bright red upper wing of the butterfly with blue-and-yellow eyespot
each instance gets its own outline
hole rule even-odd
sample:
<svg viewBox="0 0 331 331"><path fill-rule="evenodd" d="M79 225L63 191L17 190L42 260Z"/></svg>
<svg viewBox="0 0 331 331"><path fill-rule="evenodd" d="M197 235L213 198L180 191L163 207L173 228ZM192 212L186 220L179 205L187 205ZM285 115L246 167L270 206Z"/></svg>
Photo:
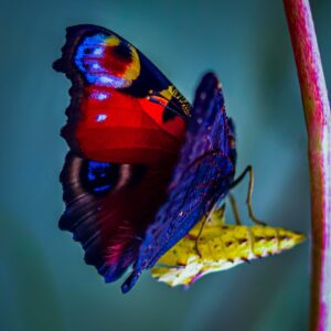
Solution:
<svg viewBox="0 0 331 331"><path fill-rule="evenodd" d="M74 151L126 163L178 154L190 105L130 43L102 28L70 28L54 67L73 82L63 136Z"/></svg>

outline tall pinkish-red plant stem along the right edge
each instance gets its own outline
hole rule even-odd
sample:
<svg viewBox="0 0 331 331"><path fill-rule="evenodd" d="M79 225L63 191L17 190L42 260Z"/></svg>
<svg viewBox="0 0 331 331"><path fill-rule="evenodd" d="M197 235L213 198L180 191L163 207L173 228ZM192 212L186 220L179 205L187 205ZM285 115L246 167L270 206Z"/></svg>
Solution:
<svg viewBox="0 0 331 331"><path fill-rule="evenodd" d="M308 0L284 0L308 131L312 278L310 330L331 330L331 113Z"/></svg>

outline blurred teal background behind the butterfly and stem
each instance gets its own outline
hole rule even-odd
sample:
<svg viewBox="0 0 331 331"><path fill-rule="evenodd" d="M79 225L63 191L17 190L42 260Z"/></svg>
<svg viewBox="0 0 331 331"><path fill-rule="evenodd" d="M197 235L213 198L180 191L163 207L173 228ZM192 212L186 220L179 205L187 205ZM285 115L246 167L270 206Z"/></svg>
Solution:
<svg viewBox="0 0 331 331"><path fill-rule="evenodd" d="M330 86L331 2L312 9ZM309 233L305 120L280 0L1 0L0 330L308 330L309 238L189 291L145 273L124 296L84 264L57 228L70 83L52 71L65 28L77 23L131 41L190 100L215 71L236 122L238 172L255 168L256 214ZM246 188L235 193L248 222Z"/></svg>

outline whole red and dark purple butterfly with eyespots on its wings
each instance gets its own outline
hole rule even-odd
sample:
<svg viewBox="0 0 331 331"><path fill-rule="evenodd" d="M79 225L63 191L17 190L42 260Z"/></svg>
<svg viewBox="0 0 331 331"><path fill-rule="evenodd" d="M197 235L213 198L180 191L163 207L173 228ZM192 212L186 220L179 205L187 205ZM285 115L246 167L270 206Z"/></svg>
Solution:
<svg viewBox="0 0 331 331"><path fill-rule="evenodd" d="M131 266L127 292L234 183L221 84L207 73L191 106L138 49L95 25L67 28L53 67L72 82L60 228L106 282Z"/></svg>

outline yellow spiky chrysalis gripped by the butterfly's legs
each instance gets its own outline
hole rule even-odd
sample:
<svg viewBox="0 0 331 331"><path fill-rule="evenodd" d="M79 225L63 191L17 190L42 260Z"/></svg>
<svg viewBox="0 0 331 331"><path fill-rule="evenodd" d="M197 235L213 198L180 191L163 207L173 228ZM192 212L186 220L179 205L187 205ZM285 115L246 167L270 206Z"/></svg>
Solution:
<svg viewBox="0 0 331 331"><path fill-rule="evenodd" d="M303 239L305 235L281 227L225 224L224 213L215 211L169 249L151 275L169 286L189 286L206 274L281 253Z"/></svg>

